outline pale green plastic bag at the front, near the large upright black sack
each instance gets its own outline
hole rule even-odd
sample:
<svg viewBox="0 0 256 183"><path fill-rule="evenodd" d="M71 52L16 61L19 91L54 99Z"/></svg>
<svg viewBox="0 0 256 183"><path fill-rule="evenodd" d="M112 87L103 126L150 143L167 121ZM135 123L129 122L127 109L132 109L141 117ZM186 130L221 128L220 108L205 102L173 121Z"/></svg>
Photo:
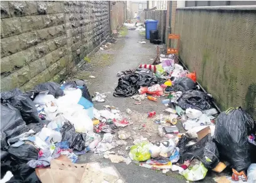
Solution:
<svg viewBox="0 0 256 183"><path fill-rule="evenodd" d="M189 181L196 181L205 178L208 169L200 162L192 167L183 171L183 176Z"/></svg>

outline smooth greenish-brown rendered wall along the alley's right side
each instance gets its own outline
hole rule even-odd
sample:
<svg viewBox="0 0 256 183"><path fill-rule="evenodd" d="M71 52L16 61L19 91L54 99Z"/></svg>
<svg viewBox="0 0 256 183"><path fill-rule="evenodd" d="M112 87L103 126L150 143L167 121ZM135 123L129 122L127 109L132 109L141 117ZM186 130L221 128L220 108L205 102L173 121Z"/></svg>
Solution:
<svg viewBox="0 0 256 183"><path fill-rule="evenodd" d="M179 57L221 110L256 118L256 7L177 9L175 33Z"/></svg>

